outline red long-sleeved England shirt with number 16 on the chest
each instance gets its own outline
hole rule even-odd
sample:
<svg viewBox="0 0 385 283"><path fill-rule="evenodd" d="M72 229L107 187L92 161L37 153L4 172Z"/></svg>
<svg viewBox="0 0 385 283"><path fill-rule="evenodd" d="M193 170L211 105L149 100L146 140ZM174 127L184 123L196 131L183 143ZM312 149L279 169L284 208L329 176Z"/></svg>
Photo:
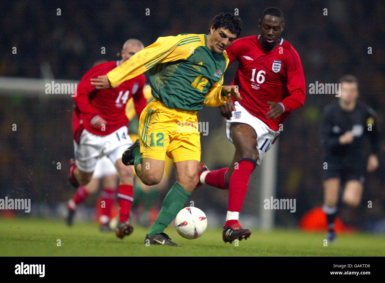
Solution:
<svg viewBox="0 0 385 283"><path fill-rule="evenodd" d="M231 84L239 86L239 103L270 129L278 131L290 112L305 101L305 76L300 56L289 42L281 39L275 49L266 51L259 37L237 39L226 49L229 64L239 61ZM275 120L266 117L268 101L281 102L285 108Z"/></svg>

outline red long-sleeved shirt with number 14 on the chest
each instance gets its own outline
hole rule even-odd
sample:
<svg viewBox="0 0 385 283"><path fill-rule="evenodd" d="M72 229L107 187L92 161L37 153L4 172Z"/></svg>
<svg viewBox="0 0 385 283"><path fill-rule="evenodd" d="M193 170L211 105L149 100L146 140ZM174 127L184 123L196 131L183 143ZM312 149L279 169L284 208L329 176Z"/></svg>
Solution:
<svg viewBox="0 0 385 283"><path fill-rule="evenodd" d="M75 110L72 121L75 141L79 138L83 127L92 134L107 136L129 121L126 116L126 103L134 97L134 106L138 117L141 115L147 100L143 95L146 77L141 74L131 80L123 82L115 88L96 90L90 79L105 75L119 65L119 61L105 62L90 69L77 86ZM107 124L95 128L90 121L99 115Z"/></svg>

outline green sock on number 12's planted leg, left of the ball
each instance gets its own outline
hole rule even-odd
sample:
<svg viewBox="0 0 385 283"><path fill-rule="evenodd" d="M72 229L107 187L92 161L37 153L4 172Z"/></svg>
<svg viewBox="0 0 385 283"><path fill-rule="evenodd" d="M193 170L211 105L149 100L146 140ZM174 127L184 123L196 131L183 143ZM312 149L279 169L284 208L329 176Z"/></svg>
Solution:
<svg viewBox="0 0 385 283"><path fill-rule="evenodd" d="M176 214L184 207L191 193L187 192L183 187L175 182L166 197L163 200L161 212L159 212L154 224L151 227L149 236L162 233L164 229L171 223Z"/></svg>

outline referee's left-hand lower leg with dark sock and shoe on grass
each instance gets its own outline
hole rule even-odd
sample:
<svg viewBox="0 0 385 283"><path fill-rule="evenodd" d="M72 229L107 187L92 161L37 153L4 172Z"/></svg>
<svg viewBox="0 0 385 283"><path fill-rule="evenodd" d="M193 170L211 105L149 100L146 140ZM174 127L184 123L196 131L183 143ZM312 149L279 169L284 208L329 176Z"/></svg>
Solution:
<svg viewBox="0 0 385 283"><path fill-rule="evenodd" d="M334 241L335 231L334 222L337 215L338 189L340 188L340 178L328 178L323 182L324 188L324 205L323 211L326 213L328 221L328 240Z"/></svg>

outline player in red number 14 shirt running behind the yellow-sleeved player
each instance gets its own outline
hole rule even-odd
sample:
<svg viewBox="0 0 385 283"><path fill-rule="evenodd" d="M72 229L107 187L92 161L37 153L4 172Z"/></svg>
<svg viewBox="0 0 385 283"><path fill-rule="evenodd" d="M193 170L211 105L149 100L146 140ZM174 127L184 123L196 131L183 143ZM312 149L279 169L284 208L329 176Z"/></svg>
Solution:
<svg viewBox="0 0 385 283"><path fill-rule="evenodd" d="M72 222L76 204L87 197L85 185L92 178L97 160L107 156L115 165L120 177L118 187L120 211L116 230L118 238L131 234L133 230L128 223L134 199L133 171L131 166L125 166L121 160L122 152L127 146L132 145L126 126L129 122L125 113L126 103L133 97L137 115L138 117L141 115L147 104L143 95L146 78L141 74L114 89L101 90L91 85L90 79L104 75L143 48L139 40L127 40L122 49L122 59L105 62L90 69L80 80L74 95L76 106L72 129L76 164L70 166L70 181L80 187L68 203L67 223Z"/></svg>

